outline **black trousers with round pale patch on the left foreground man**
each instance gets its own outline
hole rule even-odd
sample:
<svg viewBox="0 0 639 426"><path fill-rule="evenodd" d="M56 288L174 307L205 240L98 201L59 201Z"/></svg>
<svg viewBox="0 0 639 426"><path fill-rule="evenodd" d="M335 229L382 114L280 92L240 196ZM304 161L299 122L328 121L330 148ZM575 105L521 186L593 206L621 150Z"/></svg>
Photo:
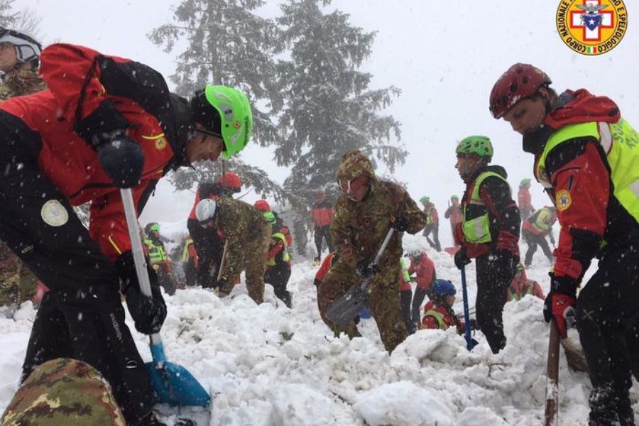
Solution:
<svg viewBox="0 0 639 426"><path fill-rule="evenodd" d="M80 359L113 388L126 420L155 404L151 379L124 323L116 269L38 168L40 138L0 111L0 239L50 291L35 317L23 379L50 359Z"/></svg>

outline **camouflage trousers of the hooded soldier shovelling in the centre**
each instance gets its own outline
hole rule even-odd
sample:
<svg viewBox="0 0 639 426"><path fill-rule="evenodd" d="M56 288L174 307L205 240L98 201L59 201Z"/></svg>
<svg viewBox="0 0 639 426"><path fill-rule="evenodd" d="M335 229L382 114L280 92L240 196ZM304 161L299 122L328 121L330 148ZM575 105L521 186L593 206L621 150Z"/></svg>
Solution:
<svg viewBox="0 0 639 426"><path fill-rule="evenodd" d="M381 273L375 275L371 284L368 285L368 292L371 296L368 307L377 323L384 347L391 352L408 336L397 290L399 259L397 266L382 266L381 268ZM336 336L340 332L346 333L351 339L360 336L354 322L346 327L339 327L328 320L325 312L334 300L342 297L352 285L360 285L361 281L362 278L356 275L352 267L338 261L317 288L317 307L320 308L320 315Z"/></svg>

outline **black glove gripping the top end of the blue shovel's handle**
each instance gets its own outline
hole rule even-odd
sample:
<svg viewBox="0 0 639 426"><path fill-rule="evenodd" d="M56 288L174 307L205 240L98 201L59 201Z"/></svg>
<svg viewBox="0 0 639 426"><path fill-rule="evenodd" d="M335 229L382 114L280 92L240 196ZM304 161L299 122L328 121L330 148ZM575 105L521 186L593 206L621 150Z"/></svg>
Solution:
<svg viewBox="0 0 639 426"><path fill-rule="evenodd" d="M104 173L117 187L130 188L140 182L144 167L142 148L126 137L129 122L111 100L103 101L75 128L98 153Z"/></svg>

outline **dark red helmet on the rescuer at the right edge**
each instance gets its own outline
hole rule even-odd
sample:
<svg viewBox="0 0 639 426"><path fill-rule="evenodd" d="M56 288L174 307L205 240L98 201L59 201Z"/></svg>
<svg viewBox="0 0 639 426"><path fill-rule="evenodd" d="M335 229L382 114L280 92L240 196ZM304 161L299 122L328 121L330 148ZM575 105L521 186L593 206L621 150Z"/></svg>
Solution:
<svg viewBox="0 0 639 426"><path fill-rule="evenodd" d="M517 102L551 84L550 77L530 64L515 64L504 72L491 90L491 114L501 119Z"/></svg>

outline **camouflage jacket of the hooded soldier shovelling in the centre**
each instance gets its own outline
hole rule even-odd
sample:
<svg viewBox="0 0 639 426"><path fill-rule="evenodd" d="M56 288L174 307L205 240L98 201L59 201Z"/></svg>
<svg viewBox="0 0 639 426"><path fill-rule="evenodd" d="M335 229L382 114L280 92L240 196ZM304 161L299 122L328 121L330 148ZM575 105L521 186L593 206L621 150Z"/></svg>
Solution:
<svg viewBox="0 0 639 426"><path fill-rule="evenodd" d="M426 215L400 185L374 180L373 192L355 202L345 195L337 200L331 234L340 261L355 267L361 261L372 262L391 229L391 217L408 217L409 234L424 228ZM380 265L395 268L402 254L402 235L395 234L381 257Z"/></svg>

